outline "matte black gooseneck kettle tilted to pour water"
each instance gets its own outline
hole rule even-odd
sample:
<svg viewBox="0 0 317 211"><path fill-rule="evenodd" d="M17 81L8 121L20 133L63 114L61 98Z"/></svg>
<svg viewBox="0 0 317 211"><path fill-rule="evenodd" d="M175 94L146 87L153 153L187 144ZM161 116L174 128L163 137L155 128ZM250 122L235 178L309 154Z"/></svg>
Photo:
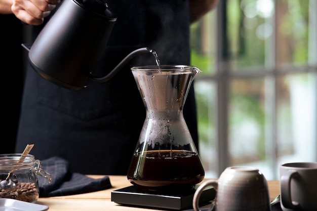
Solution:
<svg viewBox="0 0 317 211"><path fill-rule="evenodd" d="M140 48L127 55L103 77L93 76L106 47L115 15L106 0L63 0L28 52L32 68L47 80L71 90L87 87L90 80L112 78L133 57L155 52Z"/></svg>

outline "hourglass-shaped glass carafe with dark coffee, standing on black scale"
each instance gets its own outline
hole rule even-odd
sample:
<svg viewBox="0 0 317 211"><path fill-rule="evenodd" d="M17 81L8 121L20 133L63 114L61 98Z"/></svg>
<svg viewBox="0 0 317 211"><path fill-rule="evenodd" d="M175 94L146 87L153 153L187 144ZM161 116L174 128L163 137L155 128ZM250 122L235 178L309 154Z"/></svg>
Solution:
<svg viewBox="0 0 317 211"><path fill-rule="evenodd" d="M146 119L128 180L144 191L192 190L205 177L183 117L186 96L201 70L186 65L131 68L146 108Z"/></svg>

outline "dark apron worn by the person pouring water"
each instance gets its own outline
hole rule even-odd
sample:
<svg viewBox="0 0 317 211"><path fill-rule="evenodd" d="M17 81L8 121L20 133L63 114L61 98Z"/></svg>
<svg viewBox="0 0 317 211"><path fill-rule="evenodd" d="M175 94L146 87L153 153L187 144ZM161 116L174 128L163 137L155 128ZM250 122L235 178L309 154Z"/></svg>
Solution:
<svg viewBox="0 0 317 211"><path fill-rule="evenodd" d="M161 64L189 64L188 0L111 0L107 4L117 21L97 76L142 47L153 49ZM39 28L32 30L35 38ZM16 152L33 143L36 158L62 157L71 163L72 172L126 175L145 120L145 106L130 68L148 64L155 65L154 57L139 55L110 80L91 81L80 91L58 87L29 67ZM192 84L184 118L197 147L195 112Z"/></svg>

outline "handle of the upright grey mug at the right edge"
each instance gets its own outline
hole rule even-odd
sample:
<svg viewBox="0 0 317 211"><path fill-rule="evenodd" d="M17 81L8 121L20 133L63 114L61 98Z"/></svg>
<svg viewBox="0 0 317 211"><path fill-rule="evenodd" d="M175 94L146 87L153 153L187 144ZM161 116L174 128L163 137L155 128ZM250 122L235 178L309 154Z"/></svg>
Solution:
<svg viewBox="0 0 317 211"><path fill-rule="evenodd" d="M285 208L297 209L300 206L297 201L292 201L291 196L291 181L296 177L299 177L299 174L295 170L285 172L281 177L281 200Z"/></svg>

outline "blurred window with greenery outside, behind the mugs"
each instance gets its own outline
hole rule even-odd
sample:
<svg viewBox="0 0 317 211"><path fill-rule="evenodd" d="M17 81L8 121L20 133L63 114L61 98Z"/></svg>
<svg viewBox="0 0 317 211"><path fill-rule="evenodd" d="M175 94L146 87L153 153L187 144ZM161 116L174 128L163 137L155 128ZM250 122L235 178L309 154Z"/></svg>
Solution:
<svg viewBox="0 0 317 211"><path fill-rule="evenodd" d="M191 26L206 178L317 161L317 1L221 0Z"/></svg>

